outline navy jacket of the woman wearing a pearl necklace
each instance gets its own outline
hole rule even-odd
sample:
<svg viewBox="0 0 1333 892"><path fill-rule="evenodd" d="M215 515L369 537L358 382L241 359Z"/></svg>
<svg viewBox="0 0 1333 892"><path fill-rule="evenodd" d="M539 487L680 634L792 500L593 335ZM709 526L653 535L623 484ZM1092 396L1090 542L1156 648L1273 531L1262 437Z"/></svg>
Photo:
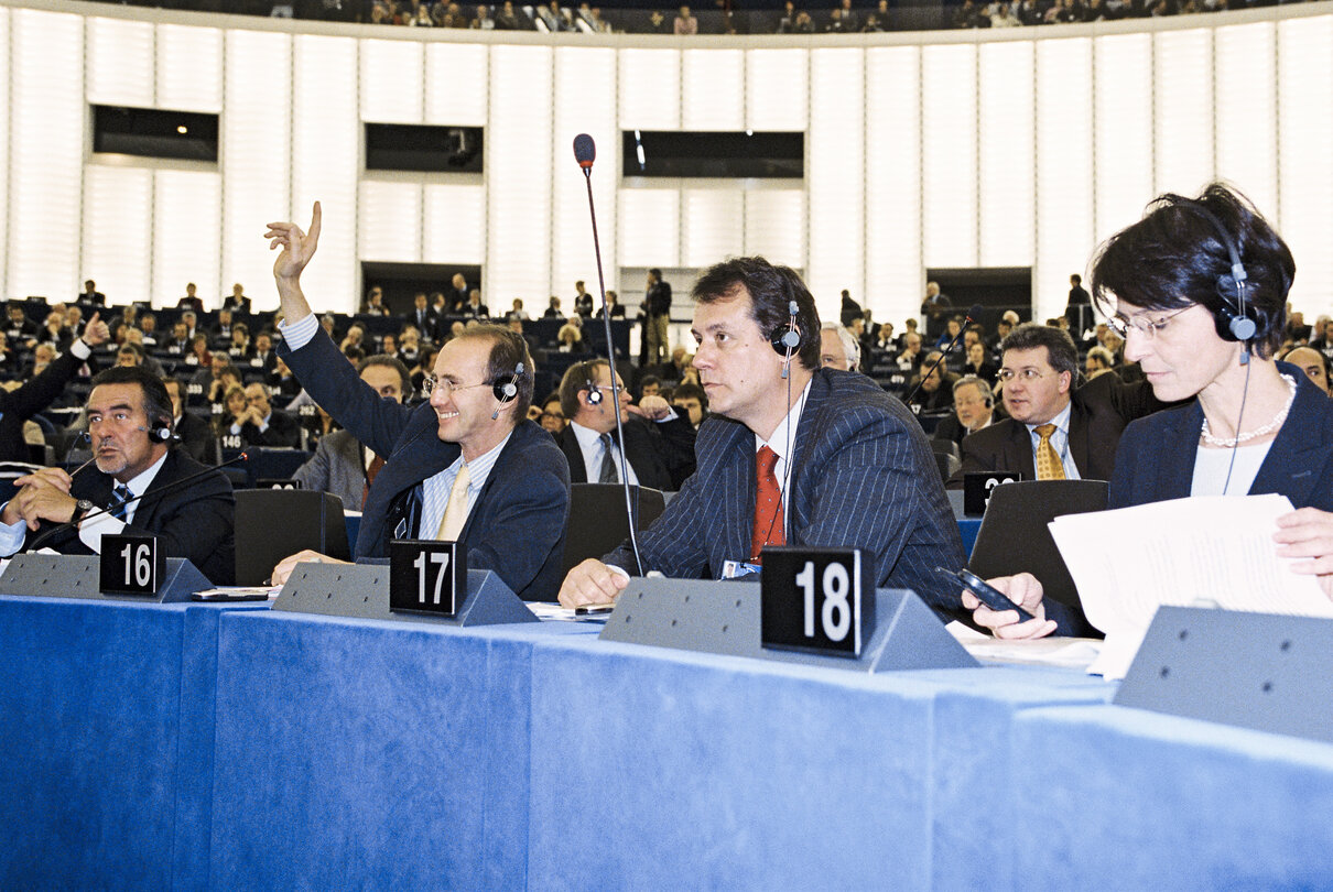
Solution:
<svg viewBox="0 0 1333 892"><path fill-rule="evenodd" d="M1260 465L1249 495L1284 495L1297 508L1333 511L1333 400L1288 363L1296 401ZM1129 425L1120 440L1109 508L1184 499L1194 480L1204 408L1198 400Z"/></svg>

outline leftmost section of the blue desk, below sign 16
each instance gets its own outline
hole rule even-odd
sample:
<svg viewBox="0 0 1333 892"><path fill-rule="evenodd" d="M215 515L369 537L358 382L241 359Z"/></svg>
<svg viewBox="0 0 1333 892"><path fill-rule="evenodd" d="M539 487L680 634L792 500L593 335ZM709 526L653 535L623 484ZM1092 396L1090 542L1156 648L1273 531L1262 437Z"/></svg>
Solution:
<svg viewBox="0 0 1333 892"><path fill-rule="evenodd" d="M0 887L204 884L225 612L0 599Z"/></svg>

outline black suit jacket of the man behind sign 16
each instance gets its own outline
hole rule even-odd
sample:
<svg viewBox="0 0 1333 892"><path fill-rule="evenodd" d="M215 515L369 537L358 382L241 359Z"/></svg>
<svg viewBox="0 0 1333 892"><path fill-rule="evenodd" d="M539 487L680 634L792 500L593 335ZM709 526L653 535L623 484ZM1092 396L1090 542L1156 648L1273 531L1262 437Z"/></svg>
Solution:
<svg viewBox="0 0 1333 892"><path fill-rule="evenodd" d="M135 523L125 527L125 535L157 536L168 557L188 557L215 585L231 585L236 579L236 497L227 475L215 468L188 487L155 495L200 471L207 471L205 465L183 449L168 451L161 469L135 508ZM69 495L107 508L115 503L115 477L89 467L75 477ZM36 532L28 533L28 543L56 525L43 521ZM63 555L92 553L76 529L57 533L47 545Z"/></svg>

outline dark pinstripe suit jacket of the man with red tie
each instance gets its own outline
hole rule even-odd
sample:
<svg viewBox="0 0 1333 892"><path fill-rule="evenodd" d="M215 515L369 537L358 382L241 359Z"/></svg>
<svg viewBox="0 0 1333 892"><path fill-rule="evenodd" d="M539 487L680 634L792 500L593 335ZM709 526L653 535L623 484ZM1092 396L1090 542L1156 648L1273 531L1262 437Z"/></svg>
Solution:
<svg viewBox="0 0 1333 892"><path fill-rule="evenodd" d="M724 561L749 557L754 433L709 416L694 452L698 469L639 536L645 572L717 579ZM966 559L930 447L906 408L870 379L814 372L788 495L788 543L864 548L878 585L910 588L941 611L960 607L957 583L934 572ZM628 543L604 560L635 571Z"/></svg>

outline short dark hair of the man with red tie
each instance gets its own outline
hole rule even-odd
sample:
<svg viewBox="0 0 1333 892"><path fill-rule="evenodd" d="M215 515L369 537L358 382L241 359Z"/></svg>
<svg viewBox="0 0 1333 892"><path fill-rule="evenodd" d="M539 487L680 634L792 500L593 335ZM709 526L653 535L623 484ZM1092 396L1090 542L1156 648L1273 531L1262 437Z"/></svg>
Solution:
<svg viewBox="0 0 1333 892"><path fill-rule="evenodd" d="M792 319L790 303L796 301L796 327L801 347L796 352L801 365L820 367L820 313L814 297L790 267L770 264L764 257L732 257L709 267L694 283L696 303L712 304L737 296L744 288L750 296L750 319L764 337L785 329Z"/></svg>

